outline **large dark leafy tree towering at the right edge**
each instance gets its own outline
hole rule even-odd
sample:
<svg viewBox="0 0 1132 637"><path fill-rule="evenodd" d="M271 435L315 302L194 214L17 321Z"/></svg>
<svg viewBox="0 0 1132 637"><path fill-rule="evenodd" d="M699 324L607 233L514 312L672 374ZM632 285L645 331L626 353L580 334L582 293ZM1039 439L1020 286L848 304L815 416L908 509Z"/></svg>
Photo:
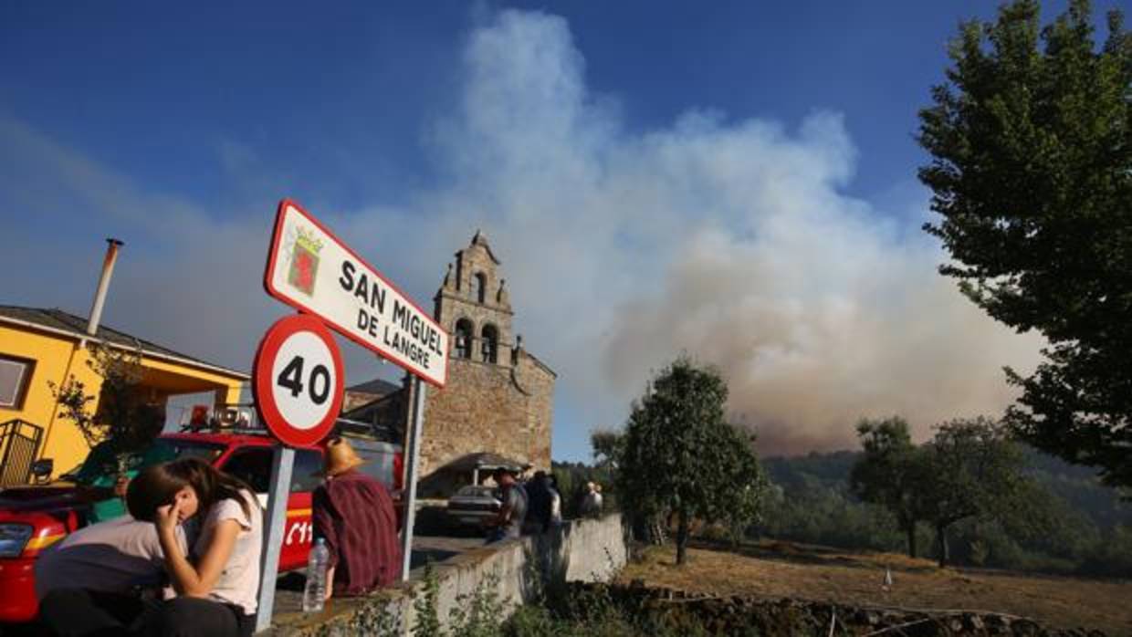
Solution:
<svg viewBox="0 0 1132 637"><path fill-rule="evenodd" d="M920 111L919 171L942 215L941 273L1049 345L1006 422L1032 445L1132 485L1132 36L1094 41L1087 0L1039 28L1037 0L961 26Z"/></svg>

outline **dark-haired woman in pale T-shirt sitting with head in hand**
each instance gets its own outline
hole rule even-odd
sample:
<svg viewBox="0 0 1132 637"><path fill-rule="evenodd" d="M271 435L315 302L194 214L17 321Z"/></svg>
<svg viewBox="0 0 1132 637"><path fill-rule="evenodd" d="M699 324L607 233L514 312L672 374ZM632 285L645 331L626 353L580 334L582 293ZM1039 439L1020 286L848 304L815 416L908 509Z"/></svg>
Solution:
<svg viewBox="0 0 1132 637"><path fill-rule="evenodd" d="M231 636L255 629L263 549L263 511L250 487L198 458L143 470L130 481L126 505L152 522L177 597L146 620L151 635ZM199 516L194 561L180 550L175 528Z"/></svg>

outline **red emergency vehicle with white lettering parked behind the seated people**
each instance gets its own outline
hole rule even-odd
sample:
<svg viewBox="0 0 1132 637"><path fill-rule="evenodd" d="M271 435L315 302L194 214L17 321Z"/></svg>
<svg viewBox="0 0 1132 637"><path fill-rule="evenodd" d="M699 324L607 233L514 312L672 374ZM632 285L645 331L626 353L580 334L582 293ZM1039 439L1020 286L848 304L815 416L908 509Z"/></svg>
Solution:
<svg viewBox="0 0 1132 637"><path fill-rule="evenodd" d="M350 438L368 462L359 468L389 487L400 502L401 447L379 440ZM256 490L266 505L272 454L276 441L256 432L166 433L155 445L165 458L199 457ZM303 568L314 536L311 491L321 481L319 447L295 449L288 499L280 571ZM45 485L0 490L0 623L31 621L38 612L34 566L40 551L86 526L94 502L112 497L106 488L57 481ZM398 518L401 508L398 507Z"/></svg>

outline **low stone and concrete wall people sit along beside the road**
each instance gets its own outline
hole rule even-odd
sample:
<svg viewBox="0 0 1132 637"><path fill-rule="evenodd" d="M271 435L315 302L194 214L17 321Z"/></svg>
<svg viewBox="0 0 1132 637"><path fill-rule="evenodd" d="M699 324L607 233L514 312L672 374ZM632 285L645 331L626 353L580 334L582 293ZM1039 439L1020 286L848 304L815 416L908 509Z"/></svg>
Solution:
<svg viewBox="0 0 1132 637"><path fill-rule="evenodd" d="M437 616L446 623L462 596L492 583L509 612L531 600L548 579L606 582L625 566L627 556L620 514L569 520L540 537L473 549L432 567ZM259 635L409 635L415 620L413 596L423 592L421 570L413 571L410 582L368 597L332 600L317 616L277 616L272 629Z"/></svg>

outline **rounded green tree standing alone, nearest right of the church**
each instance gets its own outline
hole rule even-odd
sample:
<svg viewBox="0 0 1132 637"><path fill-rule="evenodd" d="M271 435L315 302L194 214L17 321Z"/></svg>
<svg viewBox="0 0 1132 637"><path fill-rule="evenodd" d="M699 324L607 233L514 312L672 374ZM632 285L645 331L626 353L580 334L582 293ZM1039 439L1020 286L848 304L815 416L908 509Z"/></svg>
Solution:
<svg viewBox="0 0 1132 637"><path fill-rule="evenodd" d="M765 490L752 439L724 419L719 372L678 359L633 405L625 429L618 493L638 519L677 516L676 562L684 563L693 517L744 524ZM749 523L751 520L746 520Z"/></svg>

